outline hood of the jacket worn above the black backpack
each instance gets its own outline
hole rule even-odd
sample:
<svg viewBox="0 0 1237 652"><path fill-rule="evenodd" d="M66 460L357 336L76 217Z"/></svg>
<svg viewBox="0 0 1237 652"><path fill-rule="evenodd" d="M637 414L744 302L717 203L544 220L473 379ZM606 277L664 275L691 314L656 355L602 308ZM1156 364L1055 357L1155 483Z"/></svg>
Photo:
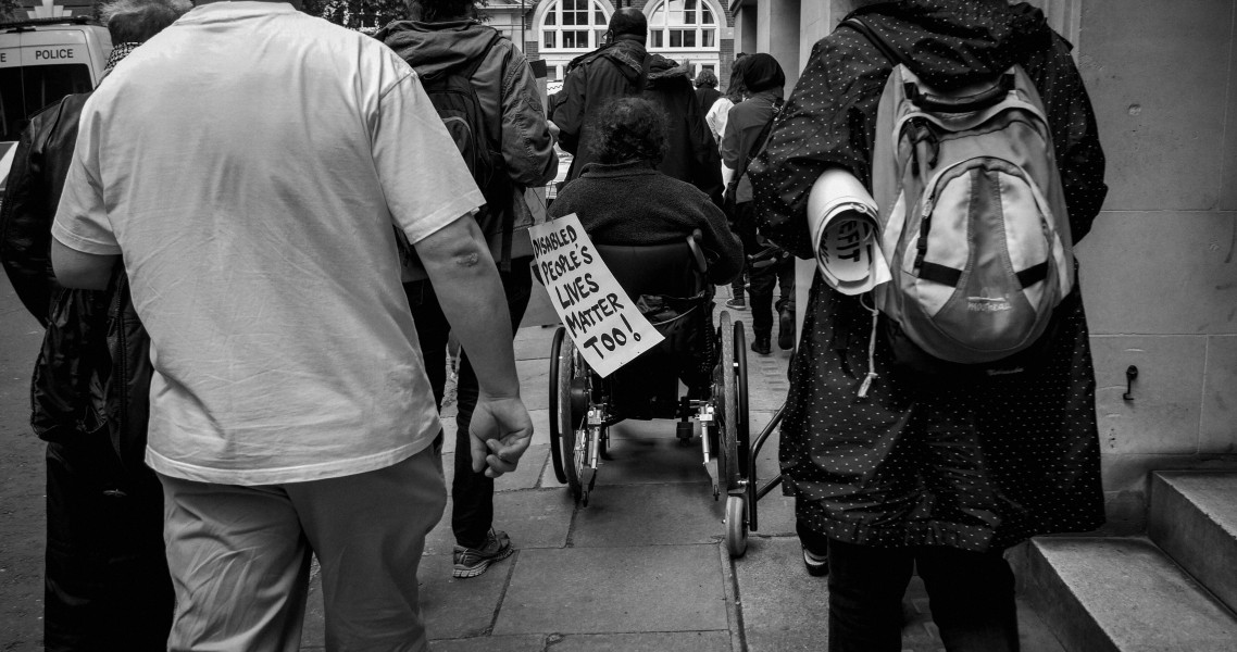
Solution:
<svg viewBox="0 0 1237 652"><path fill-rule="evenodd" d="M475 20L419 22L402 20L374 35L408 62L421 77L470 61L494 38L494 27ZM424 63L422 63L424 62Z"/></svg>

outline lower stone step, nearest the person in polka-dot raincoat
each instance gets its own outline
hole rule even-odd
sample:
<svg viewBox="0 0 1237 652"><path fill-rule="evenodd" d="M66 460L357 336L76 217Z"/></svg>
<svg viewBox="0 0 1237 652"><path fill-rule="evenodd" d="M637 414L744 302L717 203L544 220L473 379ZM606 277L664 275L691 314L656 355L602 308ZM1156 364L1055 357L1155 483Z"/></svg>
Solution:
<svg viewBox="0 0 1237 652"><path fill-rule="evenodd" d="M1024 595L1068 652L1232 652L1237 616L1143 537L1032 539Z"/></svg>

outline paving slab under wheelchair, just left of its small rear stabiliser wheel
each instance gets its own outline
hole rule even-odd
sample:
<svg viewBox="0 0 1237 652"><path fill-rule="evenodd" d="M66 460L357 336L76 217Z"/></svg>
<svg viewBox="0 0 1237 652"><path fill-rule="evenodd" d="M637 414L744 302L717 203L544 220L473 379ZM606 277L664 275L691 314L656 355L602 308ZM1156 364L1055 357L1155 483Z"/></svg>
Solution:
<svg viewBox="0 0 1237 652"><path fill-rule="evenodd" d="M725 502L713 499L709 483L605 486L576 512L571 544L716 543L725 534L724 515Z"/></svg>

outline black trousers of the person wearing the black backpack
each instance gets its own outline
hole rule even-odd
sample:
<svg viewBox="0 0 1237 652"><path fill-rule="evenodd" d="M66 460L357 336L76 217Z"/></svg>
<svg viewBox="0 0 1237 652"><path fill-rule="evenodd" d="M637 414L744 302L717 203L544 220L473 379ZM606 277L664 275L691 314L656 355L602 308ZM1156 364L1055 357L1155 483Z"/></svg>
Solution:
<svg viewBox="0 0 1237 652"><path fill-rule="evenodd" d="M528 308L532 296L531 259L513 259L510 272L499 272L502 290L511 311L511 330L515 333ZM443 314L429 281L404 283L412 318L417 323L421 355L426 360L426 374L434 392L434 402L443 407L443 390L447 385L447 340L452 325ZM494 479L484 473L473 473L473 449L469 447L469 424L480 395L476 372L468 361L468 351L460 354L459 377L455 381L455 476L452 479L452 532L455 543L469 548L485 544L485 536L494 525Z"/></svg>

